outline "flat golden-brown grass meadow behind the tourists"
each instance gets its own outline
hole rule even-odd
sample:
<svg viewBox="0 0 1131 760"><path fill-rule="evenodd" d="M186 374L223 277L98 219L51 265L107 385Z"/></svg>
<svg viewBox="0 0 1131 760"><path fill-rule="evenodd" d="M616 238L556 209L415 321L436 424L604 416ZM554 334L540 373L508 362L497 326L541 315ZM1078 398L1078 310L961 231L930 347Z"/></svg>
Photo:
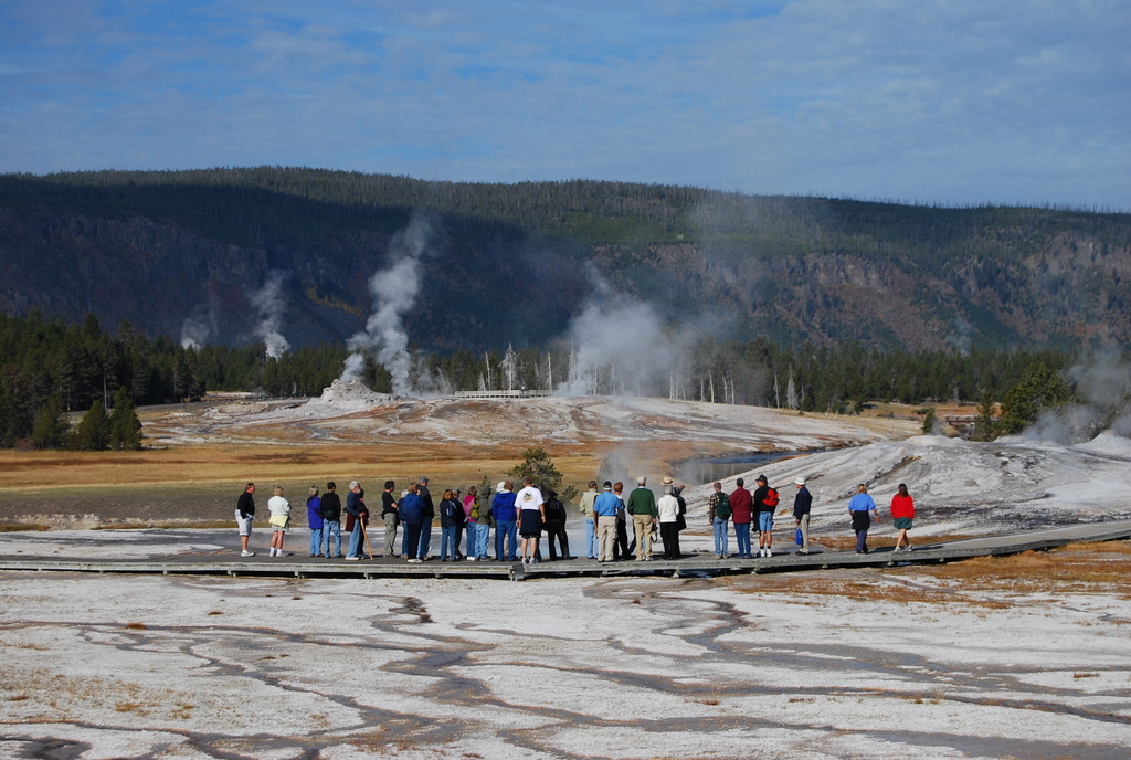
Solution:
<svg viewBox="0 0 1131 760"><path fill-rule="evenodd" d="M615 448L608 442L547 446L566 476L581 486ZM322 443L309 446L216 444L141 451L0 451L0 524L51 524L52 516L97 516L103 522L210 524L227 519L243 484L259 494L283 485L301 503L310 485L359 480L372 495L385 481L400 484L421 475L433 489L494 483L521 460L519 446L451 442ZM647 447L654 472L666 461L697 456L694 444Z"/></svg>

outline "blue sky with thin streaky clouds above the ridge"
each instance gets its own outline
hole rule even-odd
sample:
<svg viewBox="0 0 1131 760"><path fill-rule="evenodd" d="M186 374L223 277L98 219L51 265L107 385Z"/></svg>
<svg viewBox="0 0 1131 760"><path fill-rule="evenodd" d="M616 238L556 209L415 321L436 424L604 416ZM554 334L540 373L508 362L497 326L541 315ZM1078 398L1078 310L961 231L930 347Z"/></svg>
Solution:
<svg viewBox="0 0 1131 760"><path fill-rule="evenodd" d="M1131 210L1131 0L0 0L0 172Z"/></svg>

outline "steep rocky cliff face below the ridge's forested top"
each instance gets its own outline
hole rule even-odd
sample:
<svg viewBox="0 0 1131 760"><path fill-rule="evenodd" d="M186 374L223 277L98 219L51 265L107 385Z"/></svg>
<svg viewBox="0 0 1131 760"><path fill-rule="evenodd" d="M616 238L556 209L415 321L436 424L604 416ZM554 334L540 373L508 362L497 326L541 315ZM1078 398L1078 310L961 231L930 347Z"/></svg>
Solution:
<svg viewBox="0 0 1131 760"><path fill-rule="evenodd" d="M1125 225L1124 225L1125 226ZM636 295L665 319L750 337L844 339L908 348L991 345L1131 346L1131 249L1119 236L985 231L939 260L901 252L789 254L706 243L582 245L467 232L435 217L422 291L405 316L418 345L506 347L564 334L595 293ZM485 228L490 228L487 225ZM0 206L0 308L37 309L152 335L254 339L252 294L282 279L280 331L292 345L340 342L373 309L369 280L388 266L392 235L343 224L317 235L235 244L183 221L110 209ZM944 260L943 260L944 259Z"/></svg>

